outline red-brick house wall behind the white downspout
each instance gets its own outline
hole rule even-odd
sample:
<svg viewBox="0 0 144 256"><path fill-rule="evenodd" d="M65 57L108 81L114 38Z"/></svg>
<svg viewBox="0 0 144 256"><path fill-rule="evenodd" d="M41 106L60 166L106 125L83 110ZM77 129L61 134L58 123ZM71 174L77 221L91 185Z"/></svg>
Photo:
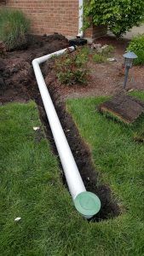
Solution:
<svg viewBox="0 0 144 256"><path fill-rule="evenodd" d="M78 0L0 0L0 6L22 10L32 21L32 32L51 34L59 32L65 36L78 34ZM91 26L85 36L99 37L104 30Z"/></svg>

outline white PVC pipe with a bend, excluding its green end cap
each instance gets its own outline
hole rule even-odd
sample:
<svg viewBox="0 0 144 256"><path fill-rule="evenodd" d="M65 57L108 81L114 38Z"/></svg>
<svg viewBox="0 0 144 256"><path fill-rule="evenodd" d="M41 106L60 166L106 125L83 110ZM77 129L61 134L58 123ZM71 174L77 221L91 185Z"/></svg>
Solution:
<svg viewBox="0 0 144 256"><path fill-rule="evenodd" d="M68 51L73 50L75 50L73 46L68 48ZM43 63L44 61L48 61L49 58L51 58L52 56L62 55L66 53L66 51L67 49L62 49L53 54L37 58L32 61L32 65L36 75L38 88L43 99L43 105L49 119L49 125L55 139L56 148L60 155L60 161L65 172L68 188L74 200L79 193L86 191L86 189L84 187L83 180L78 172L78 167L73 158L72 151L67 143L66 136L60 125L60 120L55 111L55 107L53 105L51 97L49 96L49 91L44 82L43 75L39 67L39 64Z"/></svg>

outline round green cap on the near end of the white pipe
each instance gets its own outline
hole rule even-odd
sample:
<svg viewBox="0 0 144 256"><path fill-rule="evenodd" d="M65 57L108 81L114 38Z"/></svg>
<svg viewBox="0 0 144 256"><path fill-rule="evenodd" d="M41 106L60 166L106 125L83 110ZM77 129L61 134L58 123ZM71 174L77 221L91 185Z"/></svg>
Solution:
<svg viewBox="0 0 144 256"><path fill-rule="evenodd" d="M74 204L78 212L84 216L93 216L101 209L99 197L91 192L85 191L77 195Z"/></svg>

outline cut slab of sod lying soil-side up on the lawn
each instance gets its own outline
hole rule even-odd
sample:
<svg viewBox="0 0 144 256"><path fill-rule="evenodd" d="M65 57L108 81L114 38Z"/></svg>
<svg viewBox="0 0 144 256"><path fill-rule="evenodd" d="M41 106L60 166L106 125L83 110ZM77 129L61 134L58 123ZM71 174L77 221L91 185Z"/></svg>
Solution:
<svg viewBox="0 0 144 256"><path fill-rule="evenodd" d="M141 113L144 113L144 102L135 97L120 94L102 103L98 109L101 113L107 113L109 117L131 124Z"/></svg>

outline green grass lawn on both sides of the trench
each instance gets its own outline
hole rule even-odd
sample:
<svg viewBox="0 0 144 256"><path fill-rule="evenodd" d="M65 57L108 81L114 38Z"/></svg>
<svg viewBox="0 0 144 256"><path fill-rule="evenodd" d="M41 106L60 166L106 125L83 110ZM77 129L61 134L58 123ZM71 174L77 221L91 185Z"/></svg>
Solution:
<svg viewBox="0 0 144 256"><path fill-rule="evenodd" d="M113 122L95 112L103 100L67 103L101 179L123 206L122 215L101 223L88 223L75 211L43 129L41 140L33 131L40 125L35 103L0 107L0 255L144 255L144 145L132 140L144 119L130 128Z"/></svg>

